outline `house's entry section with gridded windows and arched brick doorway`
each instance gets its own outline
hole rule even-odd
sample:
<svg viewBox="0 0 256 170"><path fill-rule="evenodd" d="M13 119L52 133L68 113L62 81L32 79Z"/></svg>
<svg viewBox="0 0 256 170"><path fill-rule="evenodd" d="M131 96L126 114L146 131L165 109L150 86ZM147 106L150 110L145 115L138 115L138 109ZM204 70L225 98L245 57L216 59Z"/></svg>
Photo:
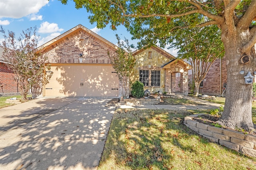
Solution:
<svg viewBox="0 0 256 170"><path fill-rule="evenodd" d="M131 82L144 84L144 89L154 92L181 93L188 95L188 70L190 64L176 59L160 47L142 48L132 53L136 58ZM176 82L176 73L180 81Z"/></svg>

